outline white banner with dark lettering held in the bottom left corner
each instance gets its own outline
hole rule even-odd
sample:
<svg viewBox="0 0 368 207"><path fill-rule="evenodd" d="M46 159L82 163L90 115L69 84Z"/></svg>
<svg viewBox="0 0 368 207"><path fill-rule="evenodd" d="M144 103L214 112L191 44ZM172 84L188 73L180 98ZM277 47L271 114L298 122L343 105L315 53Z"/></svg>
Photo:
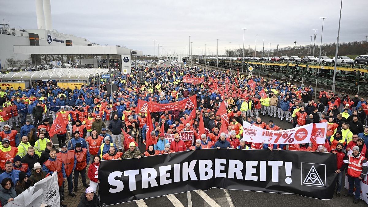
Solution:
<svg viewBox="0 0 368 207"><path fill-rule="evenodd" d="M4 207L41 206L43 203L49 206L60 206L57 172L35 183Z"/></svg>

